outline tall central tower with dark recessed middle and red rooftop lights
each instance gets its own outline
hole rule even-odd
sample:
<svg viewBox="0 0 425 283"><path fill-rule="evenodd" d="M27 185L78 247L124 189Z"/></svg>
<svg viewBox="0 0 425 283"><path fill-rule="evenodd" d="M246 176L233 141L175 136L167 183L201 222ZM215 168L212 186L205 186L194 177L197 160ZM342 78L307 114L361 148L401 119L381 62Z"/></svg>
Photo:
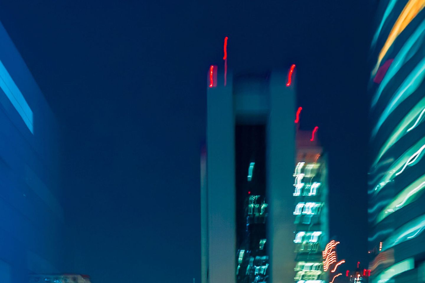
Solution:
<svg viewBox="0 0 425 283"><path fill-rule="evenodd" d="M294 66L295 67L295 66ZM201 282L294 281L294 67L218 73L201 157Z"/></svg>

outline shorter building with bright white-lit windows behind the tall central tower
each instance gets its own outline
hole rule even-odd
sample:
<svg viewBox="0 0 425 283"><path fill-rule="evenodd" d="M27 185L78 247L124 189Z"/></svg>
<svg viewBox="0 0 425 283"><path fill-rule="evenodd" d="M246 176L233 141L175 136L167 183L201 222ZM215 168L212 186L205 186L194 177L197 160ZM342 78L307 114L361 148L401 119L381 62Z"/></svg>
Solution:
<svg viewBox="0 0 425 283"><path fill-rule="evenodd" d="M299 120L299 117L297 118ZM306 280L325 282L331 266L325 250L329 241L326 156L313 132L297 131L296 166L294 171L295 199L295 282ZM333 251L329 250L329 255ZM311 281L313 282L313 281Z"/></svg>

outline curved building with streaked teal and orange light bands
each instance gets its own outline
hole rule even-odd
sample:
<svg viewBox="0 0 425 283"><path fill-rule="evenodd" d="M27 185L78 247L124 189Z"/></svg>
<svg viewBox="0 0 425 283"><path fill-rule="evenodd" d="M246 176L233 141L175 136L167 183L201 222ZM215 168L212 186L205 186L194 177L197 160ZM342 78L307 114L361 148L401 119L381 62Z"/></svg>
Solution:
<svg viewBox="0 0 425 283"><path fill-rule="evenodd" d="M425 1L374 1L368 237L371 282L423 282Z"/></svg>

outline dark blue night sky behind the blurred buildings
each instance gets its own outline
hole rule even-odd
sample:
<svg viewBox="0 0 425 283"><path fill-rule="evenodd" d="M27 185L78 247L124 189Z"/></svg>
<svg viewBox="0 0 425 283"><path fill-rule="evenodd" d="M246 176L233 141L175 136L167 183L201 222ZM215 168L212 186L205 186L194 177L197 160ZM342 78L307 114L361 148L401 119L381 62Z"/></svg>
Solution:
<svg viewBox="0 0 425 283"><path fill-rule="evenodd" d="M0 20L62 130L67 272L200 277L206 73L297 64L301 127L329 152L331 235L365 261L368 1L4 1ZM71 245L71 243L73 243Z"/></svg>

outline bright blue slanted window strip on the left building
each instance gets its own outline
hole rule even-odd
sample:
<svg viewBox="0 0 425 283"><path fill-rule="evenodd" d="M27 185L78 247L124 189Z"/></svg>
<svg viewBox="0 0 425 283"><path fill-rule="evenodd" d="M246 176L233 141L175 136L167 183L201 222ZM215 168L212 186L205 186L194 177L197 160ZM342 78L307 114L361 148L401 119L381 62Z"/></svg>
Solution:
<svg viewBox="0 0 425 283"><path fill-rule="evenodd" d="M0 87L3 92L6 94L7 98L14 106L16 111L19 113L24 123L34 134L34 124L33 124L33 112L26 102L21 91L13 81L12 77L9 75L6 67L0 61Z"/></svg>

